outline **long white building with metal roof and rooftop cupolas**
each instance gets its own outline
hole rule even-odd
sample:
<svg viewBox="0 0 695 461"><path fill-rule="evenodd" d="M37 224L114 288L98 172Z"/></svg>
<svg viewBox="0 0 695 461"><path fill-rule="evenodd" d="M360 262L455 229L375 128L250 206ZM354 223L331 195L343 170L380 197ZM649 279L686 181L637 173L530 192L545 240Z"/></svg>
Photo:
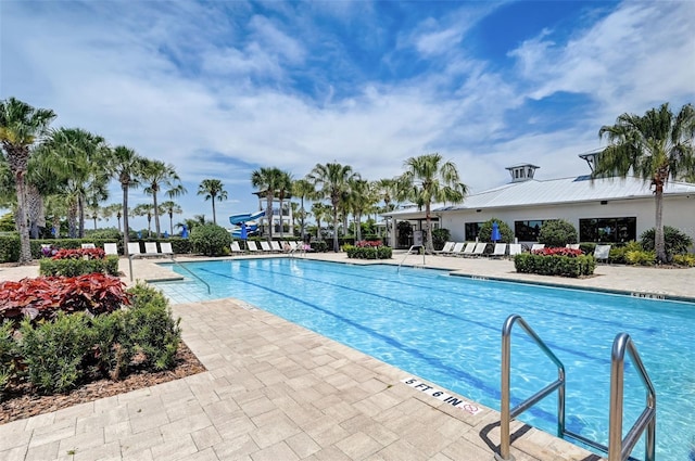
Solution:
<svg viewBox="0 0 695 461"><path fill-rule="evenodd" d="M580 156L592 165L590 158ZM591 175L560 179L534 179L540 168L531 164L507 167L507 184L468 195L464 203L433 204L434 228L448 229L454 241L475 241L483 222L506 222L519 242L538 241L544 221L564 219L574 225L580 242L619 243L637 240L655 227L656 206L649 183L639 178L595 178ZM392 223L407 220L424 228L425 212L415 206L382 216ZM669 181L664 190L664 225L678 228L695 240L695 184ZM391 226L391 242L399 242ZM396 246L406 246L403 239ZM409 244L417 242L408 242Z"/></svg>

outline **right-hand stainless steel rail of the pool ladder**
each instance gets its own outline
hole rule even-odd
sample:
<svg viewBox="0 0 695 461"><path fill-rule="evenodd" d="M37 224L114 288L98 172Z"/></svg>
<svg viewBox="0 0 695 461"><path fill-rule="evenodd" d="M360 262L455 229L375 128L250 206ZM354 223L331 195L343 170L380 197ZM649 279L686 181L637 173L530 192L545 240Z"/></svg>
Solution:
<svg viewBox="0 0 695 461"><path fill-rule="evenodd" d="M626 350L646 388L646 407L630 432L622 438L622 390ZM656 390L628 333L619 333L612 342L610 357L610 415L608 417L608 461L624 461L646 430L645 461L654 461L656 448Z"/></svg>

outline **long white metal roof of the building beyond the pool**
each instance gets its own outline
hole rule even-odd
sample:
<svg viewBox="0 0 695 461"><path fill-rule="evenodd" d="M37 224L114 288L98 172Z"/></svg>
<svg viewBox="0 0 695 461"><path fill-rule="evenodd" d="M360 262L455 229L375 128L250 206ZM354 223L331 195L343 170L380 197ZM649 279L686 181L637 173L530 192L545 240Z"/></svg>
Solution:
<svg viewBox="0 0 695 461"><path fill-rule="evenodd" d="M669 181L665 195L695 194L695 184ZM511 182L498 188L468 195L458 205L432 204L432 212L456 209L507 208L540 205L572 204L609 200L631 200L654 196L649 182L639 178L599 178L591 180L591 176L572 178ZM383 216L412 215L416 207L399 209Z"/></svg>

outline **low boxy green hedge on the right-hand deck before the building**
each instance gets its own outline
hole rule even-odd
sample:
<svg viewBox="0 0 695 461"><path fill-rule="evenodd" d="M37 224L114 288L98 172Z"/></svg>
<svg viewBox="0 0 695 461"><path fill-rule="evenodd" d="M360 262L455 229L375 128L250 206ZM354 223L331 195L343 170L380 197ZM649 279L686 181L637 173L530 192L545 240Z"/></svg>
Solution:
<svg viewBox="0 0 695 461"><path fill-rule="evenodd" d="M572 257L522 253L514 257L514 267L521 273L578 278L593 274L596 259L593 255Z"/></svg>

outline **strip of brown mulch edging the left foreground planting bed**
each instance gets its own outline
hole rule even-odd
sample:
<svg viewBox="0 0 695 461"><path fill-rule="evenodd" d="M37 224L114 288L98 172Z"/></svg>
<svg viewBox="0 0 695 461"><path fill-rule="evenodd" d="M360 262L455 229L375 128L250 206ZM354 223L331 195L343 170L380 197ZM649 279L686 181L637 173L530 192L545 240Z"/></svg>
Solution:
<svg viewBox="0 0 695 461"><path fill-rule="evenodd" d="M13 388L7 393L0 402L0 424L166 383L203 371L205 371L205 367L191 353L188 346L181 342L176 353L176 367L172 370L134 373L119 381L106 379L93 381L75 388L70 394L51 396L31 394L28 385Z"/></svg>

